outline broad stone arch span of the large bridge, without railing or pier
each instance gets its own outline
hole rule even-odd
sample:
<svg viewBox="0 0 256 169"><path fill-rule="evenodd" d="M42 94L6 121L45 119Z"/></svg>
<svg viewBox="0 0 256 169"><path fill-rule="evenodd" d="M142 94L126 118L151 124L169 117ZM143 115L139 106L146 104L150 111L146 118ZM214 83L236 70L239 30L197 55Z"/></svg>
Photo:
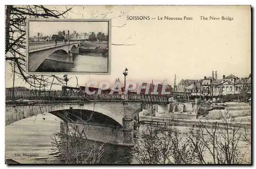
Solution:
<svg viewBox="0 0 256 169"><path fill-rule="evenodd" d="M106 106L106 107L104 107ZM111 122L114 125L118 125L120 127L123 127L123 115L116 111L112 112L111 109L108 109L108 104L106 105L94 105L94 104L42 104L42 105L15 105L15 106L7 106L6 111L8 116L6 116L6 125L9 125L13 122L22 120L24 118L36 116L45 112L50 112L53 115L57 115L62 120L65 120L63 118L63 112L71 112L69 113L72 116L71 119L68 120L80 120L80 121L87 121L88 116L80 116L77 112L82 112L82 114L91 114L92 112L95 112L96 119L106 119L107 121ZM73 111L76 111L73 113ZM59 115L59 116L58 116ZM61 117L62 116L62 117ZM72 119L73 117L73 119Z"/></svg>

